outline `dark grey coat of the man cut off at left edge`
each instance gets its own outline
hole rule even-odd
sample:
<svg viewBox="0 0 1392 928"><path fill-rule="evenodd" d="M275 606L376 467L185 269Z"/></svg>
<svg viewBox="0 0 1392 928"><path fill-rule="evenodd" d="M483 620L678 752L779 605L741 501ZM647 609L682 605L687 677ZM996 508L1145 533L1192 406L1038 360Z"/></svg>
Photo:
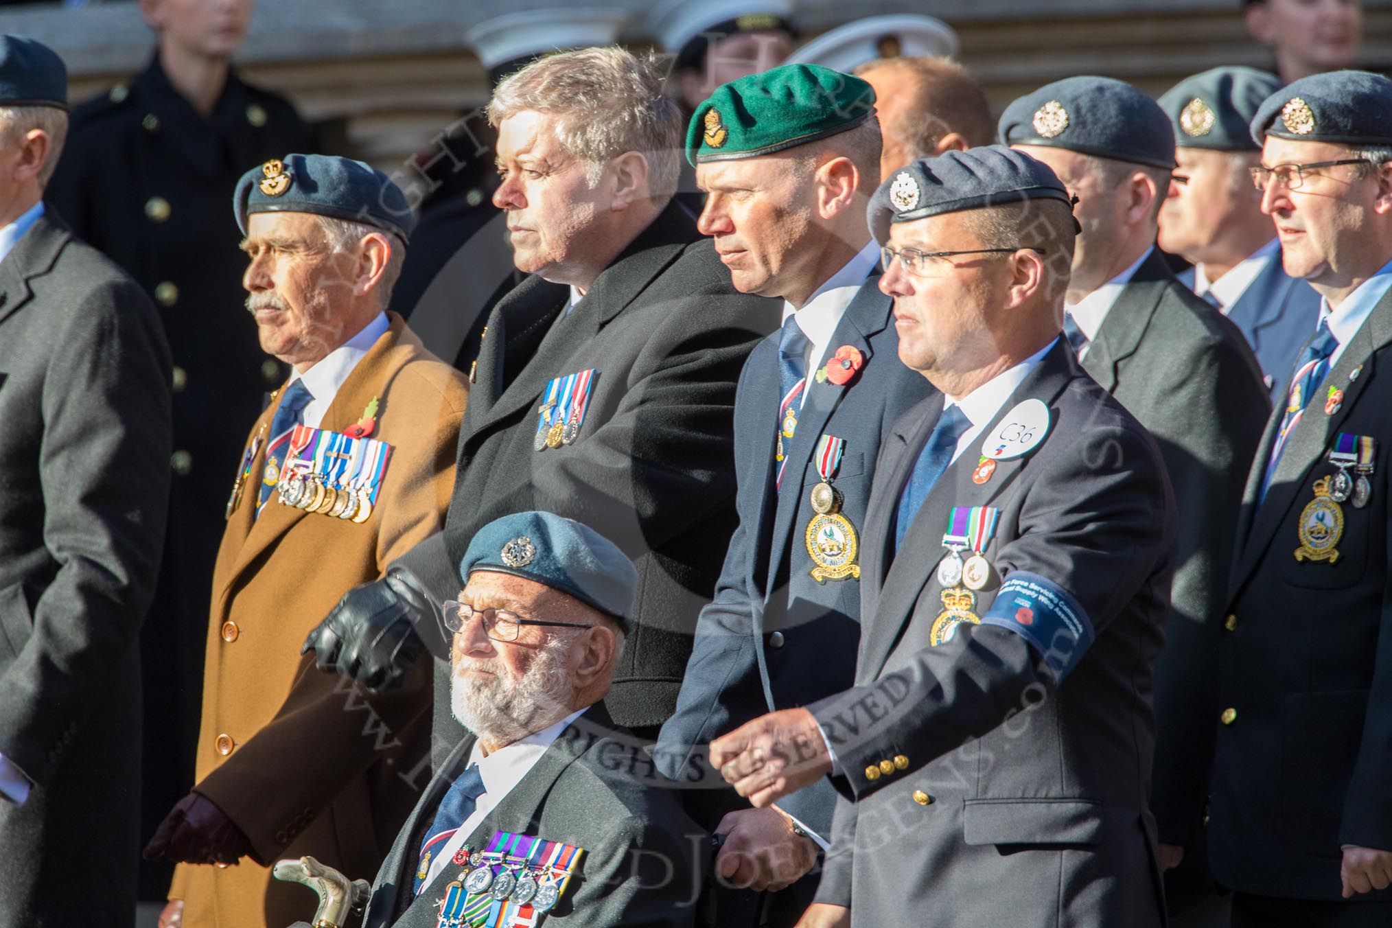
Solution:
<svg viewBox="0 0 1392 928"><path fill-rule="evenodd" d="M0 800L6 928L132 920L168 376L149 299L58 221L0 260L0 754L36 783Z"/></svg>

